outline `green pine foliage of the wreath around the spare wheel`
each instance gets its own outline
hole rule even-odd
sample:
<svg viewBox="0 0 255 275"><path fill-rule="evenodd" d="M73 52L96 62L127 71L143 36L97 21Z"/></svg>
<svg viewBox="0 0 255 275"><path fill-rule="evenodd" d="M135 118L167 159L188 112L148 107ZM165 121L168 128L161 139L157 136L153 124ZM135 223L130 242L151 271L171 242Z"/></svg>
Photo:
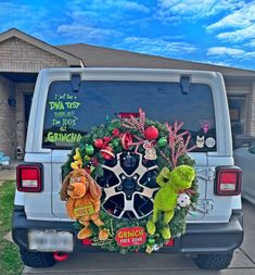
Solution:
<svg viewBox="0 0 255 275"><path fill-rule="evenodd" d="M148 126L155 126L158 129L158 138L168 138L168 129L166 125L161 124L155 121L146 120L145 125ZM84 160L86 157L86 145L94 145L95 139L103 139L104 137L113 137L113 130L118 129L120 133L127 133L129 132L132 136L140 136L140 138L144 138L141 136L140 133L136 129L127 129L125 128L119 120L114 120L112 122L107 122L106 124L93 127L91 133L86 135L79 142L78 147L80 149L80 154ZM114 153L122 152L124 150L123 145L120 142L119 137L113 137L109 143L114 150ZM161 146L156 143L155 146L156 153L157 153L157 166L158 171L162 171L163 167L167 166L168 168L173 168L169 164L169 162L166 161L167 159L171 159L171 151L169 149L168 143L166 146ZM135 147L131 147L130 150L135 150ZM144 154L144 149L142 146L139 147L139 152ZM71 154L68 155L68 161L62 166L63 168L63 174L67 175L72 168L71 168L71 163L74 161L73 157L75 155L75 148L72 150ZM103 168L102 164L104 164L104 159L102 158L100 153L100 149L95 148L94 154L92 155L93 158L97 158L99 161L99 165L95 167L95 170L92 172L92 176L94 178L101 177L103 175ZM165 158L164 158L165 157ZM89 164L89 160L85 161L82 163L82 167L87 167ZM194 167L195 162L192 160L187 153L181 155L178 159L177 166L186 164L191 167ZM197 193L197 184L196 184L196 178L193 180L192 186L190 188L193 193L191 195L191 207L194 207L197 202L199 193ZM189 207L187 208L179 208L175 209L175 215L169 222L169 227L171 230L171 236L173 238L179 237L186 232L186 217L189 212ZM146 222L149 221L150 216L146 216L145 218L142 220L128 220L128 218L115 218L107 212L105 212L103 209L101 209L100 213L101 220L104 221L105 223L105 228L107 228L110 233L110 237L105 241L100 241L98 238L98 233L99 228L94 225L91 224L91 229L93 230L93 245L94 246L100 246L101 248L109 250L109 251L119 251L120 253L126 253L127 251L136 251L136 250L145 250L146 246L149 243L149 238L155 239L155 243L162 247L165 242L163 237L161 236L160 232L163 227L166 226L163 222L163 214L160 213L160 217L156 222L156 233L153 236L148 236L148 241L146 243L140 246L140 247L127 247L127 248L122 248L117 245L115 241L115 234L119 228L123 227L132 227L136 225L142 226L145 228ZM77 227L77 226L76 226Z"/></svg>

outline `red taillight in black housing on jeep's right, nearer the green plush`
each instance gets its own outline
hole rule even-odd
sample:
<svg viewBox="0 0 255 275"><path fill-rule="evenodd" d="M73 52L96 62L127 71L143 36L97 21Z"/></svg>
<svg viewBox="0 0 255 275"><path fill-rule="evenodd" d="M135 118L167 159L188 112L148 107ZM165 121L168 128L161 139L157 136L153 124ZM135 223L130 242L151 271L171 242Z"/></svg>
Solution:
<svg viewBox="0 0 255 275"><path fill-rule="evenodd" d="M241 192L242 170L237 166L219 166L216 168L215 193L219 196L237 196Z"/></svg>

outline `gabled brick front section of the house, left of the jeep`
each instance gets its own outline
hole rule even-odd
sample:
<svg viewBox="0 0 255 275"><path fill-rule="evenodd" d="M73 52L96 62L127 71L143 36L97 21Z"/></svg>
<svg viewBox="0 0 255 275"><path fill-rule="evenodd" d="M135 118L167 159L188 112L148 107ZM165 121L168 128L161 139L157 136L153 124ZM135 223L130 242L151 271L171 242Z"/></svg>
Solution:
<svg viewBox="0 0 255 275"><path fill-rule="evenodd" d="M26 97L33 95L41 68L80 66L79 58L17 29L0 35L0 151L12 159L25 147ZM12 105L12 102L14 105Z"/></svg>

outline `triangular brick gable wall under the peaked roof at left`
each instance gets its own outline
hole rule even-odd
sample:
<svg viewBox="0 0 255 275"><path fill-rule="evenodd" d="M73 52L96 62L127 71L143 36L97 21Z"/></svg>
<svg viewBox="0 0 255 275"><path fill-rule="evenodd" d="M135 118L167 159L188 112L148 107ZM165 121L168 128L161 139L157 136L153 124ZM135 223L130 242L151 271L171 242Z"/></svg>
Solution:
<svg viewBox="0 0 255 275"><path fill-rule="evenodd" d="M66 61L16 37L0 43L0 71L33 73L66 66Z"/></svg>

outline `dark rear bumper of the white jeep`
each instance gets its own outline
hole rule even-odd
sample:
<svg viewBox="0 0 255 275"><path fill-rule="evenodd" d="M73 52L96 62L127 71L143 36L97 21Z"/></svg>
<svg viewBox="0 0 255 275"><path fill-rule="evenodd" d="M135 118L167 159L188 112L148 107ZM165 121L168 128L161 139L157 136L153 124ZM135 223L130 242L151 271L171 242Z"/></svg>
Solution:
<svg viewBox="0 0 255 275"><path fill-rule="evenodd" d="M77 234L73 223L27 220L24 209L16 207L13 212L12 236L14 241L25 249L28 249L29 229L54 229ZM188 224L186 234L175 239L174 247L164 247L160 251L191 254L230 252L240 247L242 241L242 212L234 211L229 223ZM87 252L104 251L98 247L82 246L81 241L77 239L75 240L74 250Z"/></svg>

